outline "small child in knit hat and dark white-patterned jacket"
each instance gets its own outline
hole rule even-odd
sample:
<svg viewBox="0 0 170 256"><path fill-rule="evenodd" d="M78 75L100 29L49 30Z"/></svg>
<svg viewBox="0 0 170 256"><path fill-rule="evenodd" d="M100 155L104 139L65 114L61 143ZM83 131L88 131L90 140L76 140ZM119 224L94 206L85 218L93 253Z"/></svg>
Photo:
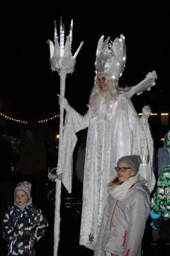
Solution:
<svg viewBox="0 0 170 256"><path fill-rule="evenodd" d="M35 243L45 234L47 220L42 210L32 203L31 183L19 182L14 199L3 219L3 237L8 255L35 255Z"/></svg>

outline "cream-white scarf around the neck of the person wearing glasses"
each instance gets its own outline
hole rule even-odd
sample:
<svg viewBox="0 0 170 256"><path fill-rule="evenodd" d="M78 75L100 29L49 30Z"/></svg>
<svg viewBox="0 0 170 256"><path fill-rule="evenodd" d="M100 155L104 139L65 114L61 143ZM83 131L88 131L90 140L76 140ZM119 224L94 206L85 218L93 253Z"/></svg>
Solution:
<svg viewBox="0 0 170 256"><path fill-rule="evenodd" d="M109 194L116 200L123 200L127 195L128 190L134 183L139 181L140 175L135 175L132 178L128 178L121 185L116 185L115 187L109 187Z"/></svg>

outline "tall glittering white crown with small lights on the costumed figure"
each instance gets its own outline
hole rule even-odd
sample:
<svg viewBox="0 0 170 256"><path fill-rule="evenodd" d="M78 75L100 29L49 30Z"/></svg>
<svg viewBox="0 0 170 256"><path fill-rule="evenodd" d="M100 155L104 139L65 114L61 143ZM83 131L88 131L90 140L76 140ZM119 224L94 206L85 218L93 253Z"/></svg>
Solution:
<svg viewBox="0 0 170 256"><path fill-rule="evenodd" d="M115 38L114 42L104 35L100 37L97 45L95 68L97 73L107 73L112 80L118 81L127 59L125 37Z"/></svg>

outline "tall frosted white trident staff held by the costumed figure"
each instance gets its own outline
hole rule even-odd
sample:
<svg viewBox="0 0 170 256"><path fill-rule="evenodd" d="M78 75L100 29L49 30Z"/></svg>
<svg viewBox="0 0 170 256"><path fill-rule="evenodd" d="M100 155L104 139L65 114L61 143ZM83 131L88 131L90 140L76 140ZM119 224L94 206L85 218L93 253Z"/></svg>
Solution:
<svg viewBox="0 0 170 256"><path fill-rule="evenodd" d="M75 54L72 56L72 30L73 21L70 24L70 34L66 37L65 43L65 27L61 20L60 22L60 37L58 42L58 34L56 28L56 21L54 22L54 44L51 40L48 40L50 47L50 68L52 71L57 71L60 76L60 95L65 96L65 81L66 74L73 73L75 67L75 59L83 45L81 42ZM54 256L58 255L58 243L59 243L59 230L60 230L60 204L61 204L61 177L62 177L62 138L63 138L63 101L59 105L59 148L58 148L58 166L56 171L56 205L55 205L55 217L54 217Z"/></svg>

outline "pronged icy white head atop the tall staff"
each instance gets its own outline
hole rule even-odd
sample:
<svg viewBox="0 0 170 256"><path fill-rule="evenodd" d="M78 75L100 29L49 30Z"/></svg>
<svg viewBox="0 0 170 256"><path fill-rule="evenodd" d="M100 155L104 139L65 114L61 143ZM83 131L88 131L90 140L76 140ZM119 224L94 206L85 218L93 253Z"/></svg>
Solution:
<svg viewBox="0 0 170 256"><path fill-rule="evenodd" d="M73 20L70 24L70 34L66 37L65 43L65 26L60 21L60 37L58 42L58 34L56 28L56 21L54 21L54 44L51 40L48 40L50 46L50 68L52 71L65 70L66 73L73 73L75 66L75 59L83 45L81 42L75 54L72 56L72 30Z"/></svg>

